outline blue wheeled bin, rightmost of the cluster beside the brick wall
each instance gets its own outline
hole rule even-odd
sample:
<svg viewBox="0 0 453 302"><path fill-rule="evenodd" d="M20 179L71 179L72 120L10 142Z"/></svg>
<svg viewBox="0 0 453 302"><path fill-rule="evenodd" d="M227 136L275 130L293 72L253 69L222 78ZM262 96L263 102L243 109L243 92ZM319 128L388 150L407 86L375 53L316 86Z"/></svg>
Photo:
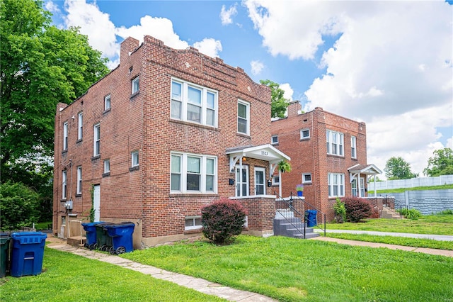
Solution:
<svg viewBox="0 0 453 302"><path fill-rule="evenodd" d="M132 252L134 247L132 245L132 233L134 233L134 223L115 223L112 225L105 225L105 229L113 241L113 249L110 250L111 254L122 254L123 252Z"/></svg>

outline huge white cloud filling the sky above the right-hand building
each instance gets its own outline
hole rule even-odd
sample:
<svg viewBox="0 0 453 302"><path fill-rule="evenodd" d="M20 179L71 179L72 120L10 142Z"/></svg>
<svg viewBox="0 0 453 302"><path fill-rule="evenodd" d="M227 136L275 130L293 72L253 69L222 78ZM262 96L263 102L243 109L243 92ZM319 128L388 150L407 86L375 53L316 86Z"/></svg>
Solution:
<svg viewBox="0 0 453 302"><path fill-rule="evenodd" d="M305 92L304 111L323 107L367 123L368 162L401 156L420 173L453 127L453 6L444 1L245 2L272 55L326 68ZM452 139L443 138L452 144Z"/></svg>

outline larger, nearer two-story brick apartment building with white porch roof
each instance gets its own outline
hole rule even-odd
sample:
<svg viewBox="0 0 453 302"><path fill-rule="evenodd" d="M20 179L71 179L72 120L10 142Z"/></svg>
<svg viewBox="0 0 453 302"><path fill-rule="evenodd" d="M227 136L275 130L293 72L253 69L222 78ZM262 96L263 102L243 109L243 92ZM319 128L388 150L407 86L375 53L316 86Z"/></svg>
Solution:
<svg viewBox="0 0 453 302"><path fill-rule="evenodd" d="M280 122L281 123L281 122ZM248 231L272 235L277 162L270 89L195 48L127 38L120 65L55 118L53 233L132 221L134 248L200 233L201 208L236 198Z"/></svg>

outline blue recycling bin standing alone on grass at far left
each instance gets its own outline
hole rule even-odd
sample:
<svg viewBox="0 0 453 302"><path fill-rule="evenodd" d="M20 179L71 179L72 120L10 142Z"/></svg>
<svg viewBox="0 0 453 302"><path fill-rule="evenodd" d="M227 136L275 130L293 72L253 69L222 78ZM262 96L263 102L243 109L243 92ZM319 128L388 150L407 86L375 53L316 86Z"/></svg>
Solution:
<svg viewBox="0 0 453 302"><path fill-rule="evenodd" d="M11 276L38 275L42 272L45 238L41 232L13 233L11 252Z"/></svg>

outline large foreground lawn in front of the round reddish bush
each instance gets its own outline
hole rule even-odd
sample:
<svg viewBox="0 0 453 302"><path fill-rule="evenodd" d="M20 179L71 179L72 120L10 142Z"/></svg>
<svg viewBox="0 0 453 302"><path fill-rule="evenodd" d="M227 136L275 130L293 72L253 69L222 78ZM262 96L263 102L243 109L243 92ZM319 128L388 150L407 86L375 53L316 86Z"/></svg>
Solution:
<svg viewBox="0 0 453 302"><path fill-rule="evenodd" d="M279 301L451 301L449 257L287 237L180 242L121 257Z"/></svg>

